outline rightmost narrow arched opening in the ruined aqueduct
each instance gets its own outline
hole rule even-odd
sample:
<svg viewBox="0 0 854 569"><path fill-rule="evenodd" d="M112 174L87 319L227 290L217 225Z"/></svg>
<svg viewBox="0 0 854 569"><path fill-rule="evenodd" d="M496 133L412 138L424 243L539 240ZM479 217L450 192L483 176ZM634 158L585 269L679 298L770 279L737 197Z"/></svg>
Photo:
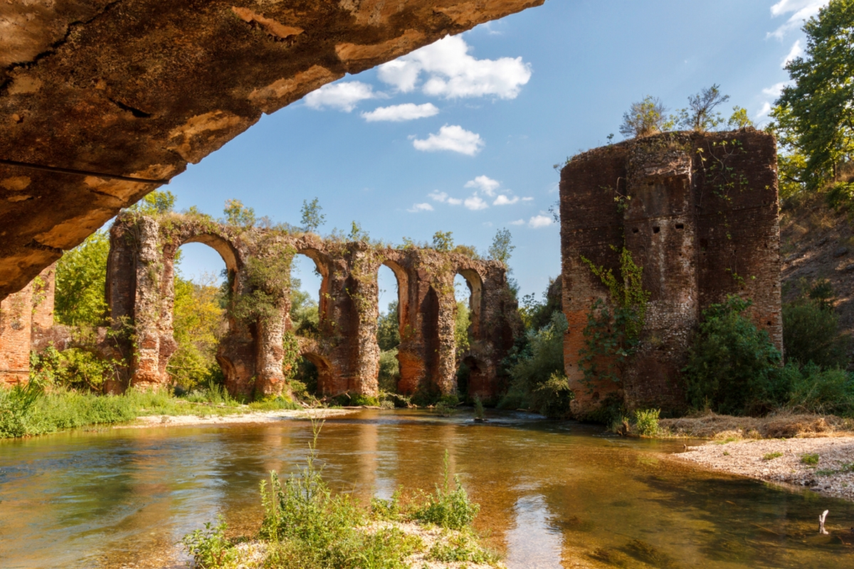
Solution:
<svg viewBox="0 0 854 569"><path fill-rule="evenodd" d="M453 340L457 366L457 391L466 396L470 393L472 376L481 373L480 366L471 357L480 338L480 315L482 281L476 271L459 270L453 277L453 294L456 300L454 312Z"/></svg>

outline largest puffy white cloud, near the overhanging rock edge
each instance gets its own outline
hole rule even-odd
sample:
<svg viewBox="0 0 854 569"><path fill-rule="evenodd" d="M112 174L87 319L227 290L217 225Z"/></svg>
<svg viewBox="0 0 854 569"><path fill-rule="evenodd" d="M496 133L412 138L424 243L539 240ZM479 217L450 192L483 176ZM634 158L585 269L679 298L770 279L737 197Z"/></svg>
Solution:
<svg viewBox="0 0 854 569"><path fill-rule="evenodd" d="M447 36L434 44L384 63L377 69L383 83L408 93L415 89L424 72L422 91L447 99L471 96L499 96L515 99L531 77L528 63L521 57L479 60L468 53L469 45L459 36Z"/></svg>

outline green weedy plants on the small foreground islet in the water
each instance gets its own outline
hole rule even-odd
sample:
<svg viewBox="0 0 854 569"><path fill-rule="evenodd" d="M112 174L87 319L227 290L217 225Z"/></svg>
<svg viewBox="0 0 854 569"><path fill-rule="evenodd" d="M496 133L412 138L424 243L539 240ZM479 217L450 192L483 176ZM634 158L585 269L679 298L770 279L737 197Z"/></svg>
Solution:
<svg viewBox="0 0 854 569"><path fill-rule="evenodd" d="M282 569L356 569L377 567L404 569L407 557L421 552L430 561L460 561L494 564L497 557L480 546L471 530L477 514L465 490L456 481L424 504L401 504L401 492L391 500L375 498L371 511L361 508L348 494L333 494L317 464L320 424L313 423L306 466L284 482L271 473L270 483L261 483L264 520L259 537L265 544L264 566ZM424 520L443 529L442 536L428 548L422 537L407 533L398 522ZM225 537L226 525L206 524L184 536L184 547L196 566L204 569L237 566L241 551Z"/></svg>

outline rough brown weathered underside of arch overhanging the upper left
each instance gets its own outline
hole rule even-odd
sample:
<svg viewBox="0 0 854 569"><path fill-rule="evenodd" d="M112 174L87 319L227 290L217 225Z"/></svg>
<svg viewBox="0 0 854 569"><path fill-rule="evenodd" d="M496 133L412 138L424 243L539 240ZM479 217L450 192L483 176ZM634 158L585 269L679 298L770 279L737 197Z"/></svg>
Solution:
<svg viewBox="0 0 854 569"><path fill-rule="evenodd" d="M0 0L0 298L261 113L543 1Z"/></svg>

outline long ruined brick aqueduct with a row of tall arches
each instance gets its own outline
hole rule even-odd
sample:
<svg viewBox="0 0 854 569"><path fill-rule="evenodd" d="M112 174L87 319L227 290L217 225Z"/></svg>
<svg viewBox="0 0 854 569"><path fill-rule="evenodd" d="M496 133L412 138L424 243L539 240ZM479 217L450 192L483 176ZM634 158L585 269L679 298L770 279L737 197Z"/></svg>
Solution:
<svg viewBox="0 0 854 569"><path fill-rule="evenodd" d="M106 294L113 329L112 334L101 330L99 351L122 357L126 367L119 378L108 383L108 390L172 383L167 363L177 348L173 339L174 261L178 247L190 242L212 247L225 262L231 288L228 331L219 343L217 360L233 395L258 397L287 388L283 363L285 373L289 364L283 339L288 336L299 354L317 366L319 392L376 396L377 270L383 264L394 271L398 282L401 379L397 391L456 392L456 372L464 361L471 370L470 395L490 398L501 391L500 361L512 347L520 323L505 267L498 261L417 247L395 249L373 247L364 241L324 240L310 233L237 228L203 216L137 213L120 216L110 229ZM292 334L289 285L296 254L312 258L322 277L319 334L314 338ZM471 348L464 354L456 353L454 341L457 304L453 280L457 274L465 277L471 291ZM52 294L51 276L44 273L39 282ZM74 345L74 334L51 327L50 315L43 314L50 312L52 297L46 299L42 294L37 302L32 298L31 284L24 293L4 302L6 306L26 305L26 311L17 316L20 334L15 335L12 328L7 331L8 327L0 330L0 359L6 358L7 372L26 372L30 327L20 319L30 305L37 306L32 311L36 315L33 347L49 342L60 347ZM9 322L8 317L4 320ZM20 341L14 343L13 338ZM24 379L17 376L20 374L4 375L6 380Z"/></svg>

